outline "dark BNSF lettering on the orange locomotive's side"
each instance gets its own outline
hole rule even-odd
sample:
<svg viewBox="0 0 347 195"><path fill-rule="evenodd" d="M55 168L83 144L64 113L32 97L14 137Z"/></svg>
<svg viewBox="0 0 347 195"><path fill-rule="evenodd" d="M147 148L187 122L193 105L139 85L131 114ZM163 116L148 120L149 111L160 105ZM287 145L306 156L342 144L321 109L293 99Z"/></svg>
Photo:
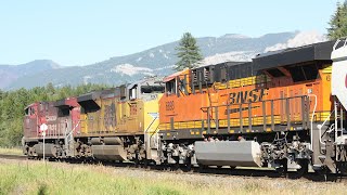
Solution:
<svg viewBox="0 0 347 195"><path fill-rule="evenodd" d="M267 95L266 91L266 89L254 89L230 93L230 104L260 102L264 95Z"/></svg>

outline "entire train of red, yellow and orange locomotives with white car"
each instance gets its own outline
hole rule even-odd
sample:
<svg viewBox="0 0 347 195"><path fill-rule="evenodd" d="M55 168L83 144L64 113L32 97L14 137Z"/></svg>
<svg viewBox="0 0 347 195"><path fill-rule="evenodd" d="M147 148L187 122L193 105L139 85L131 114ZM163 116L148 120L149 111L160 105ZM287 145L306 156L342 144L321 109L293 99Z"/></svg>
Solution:
<svg viewBox="0 0 347 195"><path fill-rule="evenodd" d="M25 108L24 154L344 173L346 42L288 48L250 62L33 103Z"/></svg>

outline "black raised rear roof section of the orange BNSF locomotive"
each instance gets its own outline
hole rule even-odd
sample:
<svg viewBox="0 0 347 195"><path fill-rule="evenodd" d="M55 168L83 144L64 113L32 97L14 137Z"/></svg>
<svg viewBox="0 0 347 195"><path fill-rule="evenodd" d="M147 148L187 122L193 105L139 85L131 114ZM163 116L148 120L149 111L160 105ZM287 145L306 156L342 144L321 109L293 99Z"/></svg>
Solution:
<svg viewBox="0 0 347 195"><path fill-rule="evenodd" d="M253 58L254 70L269 69L310 61L331 61L335 41L319 42L258 54Z"/></svg>

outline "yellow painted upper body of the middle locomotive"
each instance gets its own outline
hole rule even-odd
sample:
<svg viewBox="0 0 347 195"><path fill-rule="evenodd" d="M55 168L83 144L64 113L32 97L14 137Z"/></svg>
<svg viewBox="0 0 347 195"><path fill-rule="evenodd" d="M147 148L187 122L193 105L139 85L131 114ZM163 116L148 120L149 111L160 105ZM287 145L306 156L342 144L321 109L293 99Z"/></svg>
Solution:
<svg viewBox="0 0 347 195"><path fill-rule="evenodd" d="M162 94L153 94L146 100L120 101L119 98L95 100L100 109L81 114L81 133L104 135L146 132L153 134L158 131L160 98Z"/></svg>

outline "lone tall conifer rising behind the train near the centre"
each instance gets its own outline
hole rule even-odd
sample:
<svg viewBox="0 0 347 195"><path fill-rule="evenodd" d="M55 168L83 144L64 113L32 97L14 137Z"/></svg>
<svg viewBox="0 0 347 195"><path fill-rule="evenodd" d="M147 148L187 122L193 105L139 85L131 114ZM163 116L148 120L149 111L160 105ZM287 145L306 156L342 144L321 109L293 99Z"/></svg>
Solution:
<svg viewBox="0 0 347 195"><path fill-rule="evenodd" d="M179 61L176 63L176 70L182 70L184 68L191 69L198 66L203 60L196 40L190 32L183 34L176 50L178 51L177 56L179 57Z"/></svg>

